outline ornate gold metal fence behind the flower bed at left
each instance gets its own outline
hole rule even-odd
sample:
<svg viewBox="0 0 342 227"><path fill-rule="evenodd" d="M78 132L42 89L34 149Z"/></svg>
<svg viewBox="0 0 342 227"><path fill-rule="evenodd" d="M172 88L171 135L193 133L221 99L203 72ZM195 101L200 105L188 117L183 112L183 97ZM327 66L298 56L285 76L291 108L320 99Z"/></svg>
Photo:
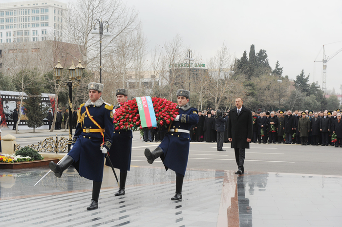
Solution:
<svg viewBox="0 0 342 227"><path fill-rule="evenodd" d="M40 141L38 145L31 144L25 147L30 147L38 152L68 152L68 140L64 137L61 137L58 140L58 136L56 136L56 140L54 140L53 136L47 137L43 141ZM20 150L22 147L20 144L15 145L15 151Z"/></svg>

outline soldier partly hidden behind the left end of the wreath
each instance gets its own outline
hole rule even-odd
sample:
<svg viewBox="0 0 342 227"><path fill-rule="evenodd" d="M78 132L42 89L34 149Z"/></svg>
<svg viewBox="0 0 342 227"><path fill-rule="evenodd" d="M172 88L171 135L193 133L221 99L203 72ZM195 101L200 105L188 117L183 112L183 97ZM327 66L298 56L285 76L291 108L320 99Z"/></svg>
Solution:
<svg viewBox="0 0 342 227"><path fill-rule="evenodd" d="M128 90L124 88L119 88L116 90L116 100L118 104L114 107L113 114L115 113L115 109L118 109L122 102L127 102L128 99ZM132 154L132 130L114 130L113 134L113 146L110 147L109 150L109 158L113 164L114 168L120 170L120 188L118 192L114 195L124 195L127 171L130 169L130 157ZM106 161L106 165L110 166L110 163Z"/></svg>

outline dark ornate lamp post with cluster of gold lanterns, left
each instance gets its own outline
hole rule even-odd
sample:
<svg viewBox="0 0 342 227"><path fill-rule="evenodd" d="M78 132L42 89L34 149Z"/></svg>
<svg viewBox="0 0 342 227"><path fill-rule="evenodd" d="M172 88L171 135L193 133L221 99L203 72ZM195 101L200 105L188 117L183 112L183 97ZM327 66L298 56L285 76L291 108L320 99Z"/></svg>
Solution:
<svg viewBox="0 0 342 227"><path fill-rule="evenodd" d="M58 61L57 65L53 67L55 71L55 76L56 76L56 82L58 85L62 87L69 87L69 141L68 141L68 151L70 151L70 146L72 143L72 113L73 113L73 108L72 108L72 88L77 87L80 85L80 81L82 78L82 73L84 70L84 67L81 65L81 61L78 62L78 65L75 67L74 62L72 62L70 68L69 68L69 81L67 83L62 83L61 78L62 78L62 73L63 73L63 67ZM77 81L75 81L75 78Z"/></svg>

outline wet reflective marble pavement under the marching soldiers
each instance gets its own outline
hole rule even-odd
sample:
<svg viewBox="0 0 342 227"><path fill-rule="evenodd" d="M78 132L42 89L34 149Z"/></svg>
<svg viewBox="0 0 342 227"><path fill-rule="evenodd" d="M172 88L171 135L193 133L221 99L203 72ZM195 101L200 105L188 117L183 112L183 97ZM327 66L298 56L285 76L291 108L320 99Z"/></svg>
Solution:
<svg viewBox="0 0 342 227"><path fill-rule="evenodd" d="M187 170L183 199L171 201L175 174L131 167L126 195L105 167L99 209L88 211L92 182L73 168L0 170L0 226L11 227L338 227L342 176ZM118 171L117 171L118 173Z"/></svg>

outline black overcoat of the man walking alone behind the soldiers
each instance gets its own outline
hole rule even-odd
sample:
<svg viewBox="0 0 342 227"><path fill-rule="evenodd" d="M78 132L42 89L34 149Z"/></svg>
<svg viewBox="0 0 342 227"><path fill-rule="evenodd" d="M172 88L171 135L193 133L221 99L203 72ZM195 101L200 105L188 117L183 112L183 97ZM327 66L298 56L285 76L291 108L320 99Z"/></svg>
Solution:
<svg viewBox="0 0 342 227"><path fill-rule="evenodd" d="M248 139L252 139L253 119L250 109L242 106L237 115L236 107L229 111L228 138L232 138L231 148L249 148Z"/></svg>

